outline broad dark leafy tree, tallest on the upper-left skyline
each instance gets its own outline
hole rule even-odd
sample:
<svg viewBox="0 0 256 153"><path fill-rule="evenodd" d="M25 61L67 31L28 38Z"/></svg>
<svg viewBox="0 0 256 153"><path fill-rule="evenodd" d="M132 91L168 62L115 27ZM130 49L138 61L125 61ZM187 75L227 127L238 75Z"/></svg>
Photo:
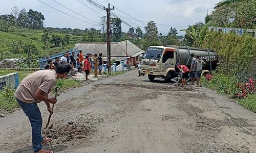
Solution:
<svg viewBox="0 0 256 153"><path fill-rule="evenodd" d="M29 29L42 29L44 27L44 15L41 12L33 11L32 9L28 12L28 28Z"/></svg>

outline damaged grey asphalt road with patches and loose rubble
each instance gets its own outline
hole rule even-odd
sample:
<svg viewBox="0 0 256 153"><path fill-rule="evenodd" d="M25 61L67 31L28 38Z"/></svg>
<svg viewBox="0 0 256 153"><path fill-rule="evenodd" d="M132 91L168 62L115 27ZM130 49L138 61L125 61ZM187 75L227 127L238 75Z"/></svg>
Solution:
<svg viewBox="0 0 256 153"><path fill-rule="evenodd" d="M0 131L0 152L33 152L23 112L1 119ZM234 100L133 70L60 95L42 134L55 152L256 152L255 132L256 114Z"/></svg>

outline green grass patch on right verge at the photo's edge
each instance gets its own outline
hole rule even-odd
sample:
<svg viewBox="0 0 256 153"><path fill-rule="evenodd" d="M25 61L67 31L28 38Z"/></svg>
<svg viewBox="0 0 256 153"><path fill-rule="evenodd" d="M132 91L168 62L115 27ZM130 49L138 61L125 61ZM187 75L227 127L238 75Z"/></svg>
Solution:
<svg viewBox="0 0 256 153"><path fill-rule="evenodd" d="M245 99L240 99L239 104L256 113L256 93L248 95Z"/></svg>

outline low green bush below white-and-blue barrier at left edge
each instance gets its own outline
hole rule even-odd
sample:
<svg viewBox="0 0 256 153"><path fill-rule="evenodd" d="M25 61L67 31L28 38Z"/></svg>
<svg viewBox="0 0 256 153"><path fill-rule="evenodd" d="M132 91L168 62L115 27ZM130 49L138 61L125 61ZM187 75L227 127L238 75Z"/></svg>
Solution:
<svg viewBox="0 0 256 153"><path fill-rule="evenodd" d="M19 105L14 97L15 89L5 88L0 90L0 109L14 111Z"/></svg>

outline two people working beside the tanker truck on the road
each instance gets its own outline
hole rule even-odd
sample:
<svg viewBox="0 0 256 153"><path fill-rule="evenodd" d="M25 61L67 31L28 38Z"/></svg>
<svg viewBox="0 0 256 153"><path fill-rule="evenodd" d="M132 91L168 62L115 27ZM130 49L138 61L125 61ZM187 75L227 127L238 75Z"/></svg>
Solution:
<svg viewBox="0 0 256 153"><path fill-rule="evenodd" d="M191 84L195 84L195 79L197 80L197 86L202 86L201 84L201 74L202 74L202 67L205 64L205 62L200 59L199 56L195 56L194 53L191 55L191 67L190 70L186 65L180 65L179 63L176 64L177 68L182 72L182 80L181 80L181 86L184 87L186 83L186 78L191 79Z"/></svg>

